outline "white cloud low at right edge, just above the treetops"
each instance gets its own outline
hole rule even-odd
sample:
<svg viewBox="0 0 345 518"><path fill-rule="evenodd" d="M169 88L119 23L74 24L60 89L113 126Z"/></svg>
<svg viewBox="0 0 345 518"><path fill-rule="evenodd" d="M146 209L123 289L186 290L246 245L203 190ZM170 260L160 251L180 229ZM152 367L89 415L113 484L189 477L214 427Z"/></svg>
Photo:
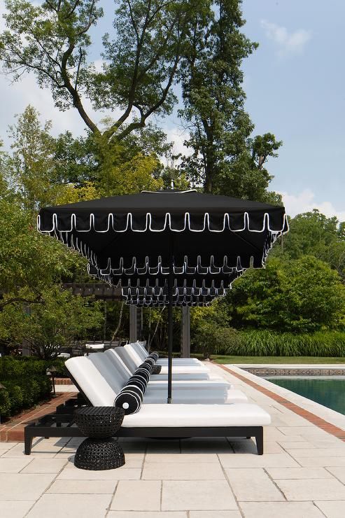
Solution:
<svg viewBox="0 0 345 518"><path fill-rule="evenodd" d="M288 193L281 193L281 195L286 212L290 216L318 209L328 218L337 216L339 221L345 221L345 211L337 211L331 202L316 202L315 193L310 189L305 189L298 195L290 195Z"/></svg>

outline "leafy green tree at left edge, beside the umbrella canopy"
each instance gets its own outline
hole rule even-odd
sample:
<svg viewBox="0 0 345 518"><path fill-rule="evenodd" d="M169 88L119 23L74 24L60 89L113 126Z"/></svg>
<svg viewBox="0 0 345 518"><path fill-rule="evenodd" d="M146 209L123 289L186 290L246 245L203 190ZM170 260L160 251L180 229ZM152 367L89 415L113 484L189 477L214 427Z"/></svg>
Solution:
<svg viewBox="0 0 345 518"><path fill-rule="evenodd" d="M38 234L31 215L13 197L0 199L0 311L15 302L39 303L47 286L73 279L86 261Z"/></svg>

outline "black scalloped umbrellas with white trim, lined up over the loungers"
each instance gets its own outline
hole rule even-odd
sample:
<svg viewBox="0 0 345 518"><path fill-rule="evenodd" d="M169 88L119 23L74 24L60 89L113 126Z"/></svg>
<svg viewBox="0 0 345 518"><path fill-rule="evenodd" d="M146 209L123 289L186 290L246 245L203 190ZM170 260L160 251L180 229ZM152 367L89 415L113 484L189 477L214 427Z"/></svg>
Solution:
<svg viewBox="0 0 345 518"><path fill-rule="evenodd" d="M172 307L209 303L248 267L263 267L288 221L283 207L164 190L47 207L38 230L85 255L127 302L168 305L171 402Z"/></svg>

